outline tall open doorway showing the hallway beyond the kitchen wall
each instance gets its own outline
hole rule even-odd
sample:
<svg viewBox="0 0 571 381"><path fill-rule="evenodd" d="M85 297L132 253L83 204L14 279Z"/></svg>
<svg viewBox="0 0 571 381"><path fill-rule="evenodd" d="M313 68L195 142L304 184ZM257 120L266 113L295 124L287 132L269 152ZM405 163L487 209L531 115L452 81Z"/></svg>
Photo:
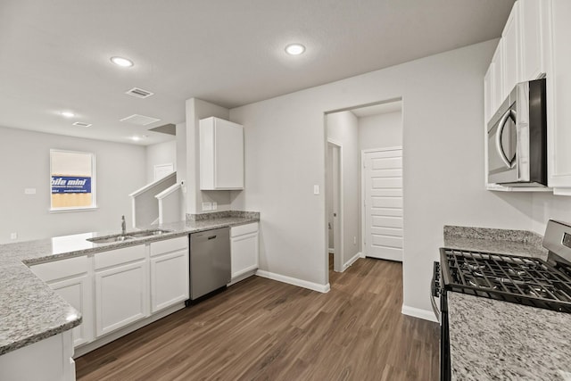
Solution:
<svg viewBox="0 0 571 381"><path fill-rule="evenodd" d="M393 251L393 246L400 246L394 248L402 249L403 233L397 235L396 228L399 227L391 226L391 224L397 224L397 219L400 219L402 223L402 215L398 215L402 213L402 199L400 206L393 206L385 202L393 203L396 200L381 200L382 203L377 204L379 199L371 198L368 203L369 210L367 210L364 195L366 185L363 178L365 175L363 154L365 152L377 152L402 146L402 100L394 98L378 104L366 104L326 112L325 128L326 220L324 228L327 243L325 263L329 268L329 256L331 255L333 270L343 272L359 258L365 256L379 258L375 252L379 244L388 247L389 252ZM376 164L377 162L376 159ZM335 166L338 169L334 168ZM396 190L389 187L398 181L401 186L402 181L401 178L399 180L389 176L394 174L392 170L398 169L387 168L385 170L384 179L375 178L372 181L375 187L380 184L381 187L387 188L388 194L393 194ZM377 177L378 173L368 176L372 175ZM373 191L372 188L371 191ZM376 197L376 195L368 196ZM377 215L379 212L380 215ZM388 224L388 226L385 227L383 224ZM382 229L379 231L378 228ZM368 236L369 239L367 239ZM400 257L385 256L383 258L401 261L402 254Z"/></svg>

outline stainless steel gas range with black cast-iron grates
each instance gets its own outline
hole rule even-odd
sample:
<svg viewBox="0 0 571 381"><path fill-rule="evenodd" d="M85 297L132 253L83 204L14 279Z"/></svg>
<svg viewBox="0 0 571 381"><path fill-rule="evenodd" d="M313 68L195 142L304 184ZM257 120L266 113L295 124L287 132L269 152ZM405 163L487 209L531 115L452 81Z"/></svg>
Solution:
<svg viewBox="0 0 571 381"><path fill-rule="evenodd" d="M440 263L434 262L431 301L441 321L441 380L451 379L448 292L571 313L571 225L550 220L542 245L549 251L547 261L440 249Z"/></svg>

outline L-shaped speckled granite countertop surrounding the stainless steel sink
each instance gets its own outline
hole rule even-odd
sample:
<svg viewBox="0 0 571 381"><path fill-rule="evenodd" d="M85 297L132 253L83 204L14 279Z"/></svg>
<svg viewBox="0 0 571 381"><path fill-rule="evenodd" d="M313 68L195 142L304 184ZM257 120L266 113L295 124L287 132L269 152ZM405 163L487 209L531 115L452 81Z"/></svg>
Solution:
<svg viewBox="0 0 571 381"><path fill-rule="evenodd" d="M212 213L219 216L177 223L154 225L129 232L161 228L170 230L161 236L94 244L87 238L117 235L119 231L58 236L13 244L0 244L0 355L81 324L79 311L34 275L30 265L81 255L93 255L121 247L186 236L213 228L232 227L260 220L259 213Z"/></svg>

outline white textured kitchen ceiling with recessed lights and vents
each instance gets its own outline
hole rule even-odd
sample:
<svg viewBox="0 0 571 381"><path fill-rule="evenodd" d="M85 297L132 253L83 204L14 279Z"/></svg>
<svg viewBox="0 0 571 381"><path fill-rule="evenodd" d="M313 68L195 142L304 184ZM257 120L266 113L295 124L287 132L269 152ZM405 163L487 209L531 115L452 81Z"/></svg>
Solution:
<svg viewBox="0 0 571 381"><path fill-rule="evenodd" d="M500 36L513 3L1 0L0 126L153 144L172 137L147 129L185 120L188 98L232 108L476 44ZM292 42L306 53L286 55ZM132 114L160 121L119 121Z"/></svg>

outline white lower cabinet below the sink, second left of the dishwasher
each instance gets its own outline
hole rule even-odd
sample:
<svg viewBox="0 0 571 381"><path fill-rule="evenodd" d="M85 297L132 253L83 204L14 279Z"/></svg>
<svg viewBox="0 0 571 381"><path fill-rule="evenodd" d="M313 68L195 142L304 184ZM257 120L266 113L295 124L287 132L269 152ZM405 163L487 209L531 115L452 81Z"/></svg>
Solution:
<svg viewBox="0 0 571 381"><path fill-rule="evenodd" d="M108 334L149 316L145 245L95 254L95 333Z"/></svg>

